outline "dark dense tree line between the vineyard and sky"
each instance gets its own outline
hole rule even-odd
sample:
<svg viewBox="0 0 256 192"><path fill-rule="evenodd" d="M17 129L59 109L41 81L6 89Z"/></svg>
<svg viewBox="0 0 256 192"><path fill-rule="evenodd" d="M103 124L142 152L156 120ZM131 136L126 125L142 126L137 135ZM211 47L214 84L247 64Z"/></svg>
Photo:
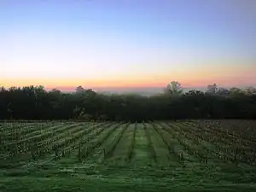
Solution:
<svg viewBox="0 0 256 192"><path fill-rule="evenodd" d="M183 92L172 81L154 96L97 93L79 86L74 93L43 86L0 88L0 119L256 119L256 89L207 86Z"/></svg>

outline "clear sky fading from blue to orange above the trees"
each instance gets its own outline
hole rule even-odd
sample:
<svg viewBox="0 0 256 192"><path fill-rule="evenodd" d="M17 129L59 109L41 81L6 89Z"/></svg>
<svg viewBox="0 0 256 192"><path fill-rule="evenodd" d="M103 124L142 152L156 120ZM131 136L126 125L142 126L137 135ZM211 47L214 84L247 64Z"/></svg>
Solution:
<svg viewBox="0 0 256 192"><path fill-rule="evenodd" d="M255 0L0 0L0 86L256 85Z"/></svg>

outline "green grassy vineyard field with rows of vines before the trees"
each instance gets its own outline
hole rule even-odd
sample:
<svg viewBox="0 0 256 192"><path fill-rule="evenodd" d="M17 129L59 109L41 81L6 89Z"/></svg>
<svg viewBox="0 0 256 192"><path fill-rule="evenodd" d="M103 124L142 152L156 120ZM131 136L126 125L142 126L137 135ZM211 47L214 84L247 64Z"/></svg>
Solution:
<svg viewBox="0 0 256 192"><path fill-rule="evenodd" d="M0 123L0 191L256 191L256 121Z"/></svg>

